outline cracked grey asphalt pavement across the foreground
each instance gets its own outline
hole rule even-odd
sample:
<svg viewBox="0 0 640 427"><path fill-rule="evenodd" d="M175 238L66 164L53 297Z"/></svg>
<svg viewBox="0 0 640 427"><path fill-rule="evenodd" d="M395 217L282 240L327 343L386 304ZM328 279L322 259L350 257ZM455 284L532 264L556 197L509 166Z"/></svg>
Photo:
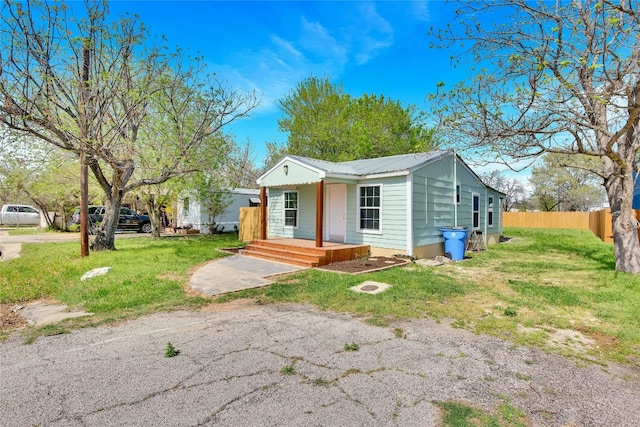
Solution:
<svg viewBox="0 0 640 427"><path fill-rule="evenodd" d="M0 343L4 426L432 426L442 401L508 403L530 425L640 425L637 368L578 367L428 319L382 328L232 303L23 339Z"/></svg>

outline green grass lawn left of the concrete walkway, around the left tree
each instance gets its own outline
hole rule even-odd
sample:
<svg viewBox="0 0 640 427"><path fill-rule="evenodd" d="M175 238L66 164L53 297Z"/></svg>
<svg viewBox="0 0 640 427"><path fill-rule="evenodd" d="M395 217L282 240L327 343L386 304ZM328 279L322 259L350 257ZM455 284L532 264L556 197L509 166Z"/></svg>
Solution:
<svg viewBox="0 0 640 427"><path fill-rule="evenodd" d="M219 248L239 245L236 234L138 237L119 239L117 251L81 258L78 242L24 244L20 258L0 263L0 303L52 299L95 313L77 322L85 324L201 306L210 301L184 289L191 269L225 256ZM112 270L80 281L97 267Z"/></svg>

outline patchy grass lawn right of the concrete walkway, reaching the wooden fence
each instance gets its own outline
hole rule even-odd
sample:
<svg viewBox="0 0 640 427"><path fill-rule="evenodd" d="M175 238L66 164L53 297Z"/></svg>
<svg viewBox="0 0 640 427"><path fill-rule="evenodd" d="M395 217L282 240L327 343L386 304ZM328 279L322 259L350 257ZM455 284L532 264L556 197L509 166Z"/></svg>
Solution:
<svg viewBox="0 0 640 427"><path fill-rule="evenodd" d="M310 270L263 289L220 297L308 302L371 324L455 319L455 325L587 360L640 356L640 276L614 270L613 247L590 231L507 229L508 243L440 267L410 266L348 276ZM349 290L392 285L377 295ZM577 331L579 334L557 335Z"/></svg>

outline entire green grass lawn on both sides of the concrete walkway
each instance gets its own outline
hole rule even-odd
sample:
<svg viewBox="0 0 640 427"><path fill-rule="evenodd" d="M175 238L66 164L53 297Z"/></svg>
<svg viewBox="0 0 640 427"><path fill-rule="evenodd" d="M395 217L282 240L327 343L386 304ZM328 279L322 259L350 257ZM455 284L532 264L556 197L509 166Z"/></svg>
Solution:
<svg viewBox="0 0 640 427"><path fill-rule="evenodd" d="M305 302L395 327L397 319L455 319L454 325L587 360L640 357L640 275L614 271L613 247L589 231L507 229L510 242L440 267L409 265L358 276L307 270L260 289L225 295L222 303ZM211 301L185 292L193 268L238 246L235 235L118 240L118 251L80 258L78 243L23 245L0 263L0 302L50 298L96 313L69 324L95 324ZM80 282L86 271L106 276ZM349 290L385 282L370 295ZM397 328L396 328L397 329ZM558 337L559 332L579 334ZM401 333L400 331L399 333Z"/></svg>

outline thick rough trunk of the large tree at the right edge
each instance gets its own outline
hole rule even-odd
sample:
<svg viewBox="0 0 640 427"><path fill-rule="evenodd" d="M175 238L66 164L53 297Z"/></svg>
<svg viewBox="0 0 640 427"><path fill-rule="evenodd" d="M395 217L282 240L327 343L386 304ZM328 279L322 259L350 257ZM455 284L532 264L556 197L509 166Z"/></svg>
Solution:
<svg viewBox="0 0 640 427"><path fill-rule="evenodd" d="M606 167L605 163L605 169ZM624 171L616 170L616 172L609 174L605 179L605 188L611 206L616 270L638 274L640 273L640 243L638 242L638 221L632 208L633 173L631 168Z"/></svg>

